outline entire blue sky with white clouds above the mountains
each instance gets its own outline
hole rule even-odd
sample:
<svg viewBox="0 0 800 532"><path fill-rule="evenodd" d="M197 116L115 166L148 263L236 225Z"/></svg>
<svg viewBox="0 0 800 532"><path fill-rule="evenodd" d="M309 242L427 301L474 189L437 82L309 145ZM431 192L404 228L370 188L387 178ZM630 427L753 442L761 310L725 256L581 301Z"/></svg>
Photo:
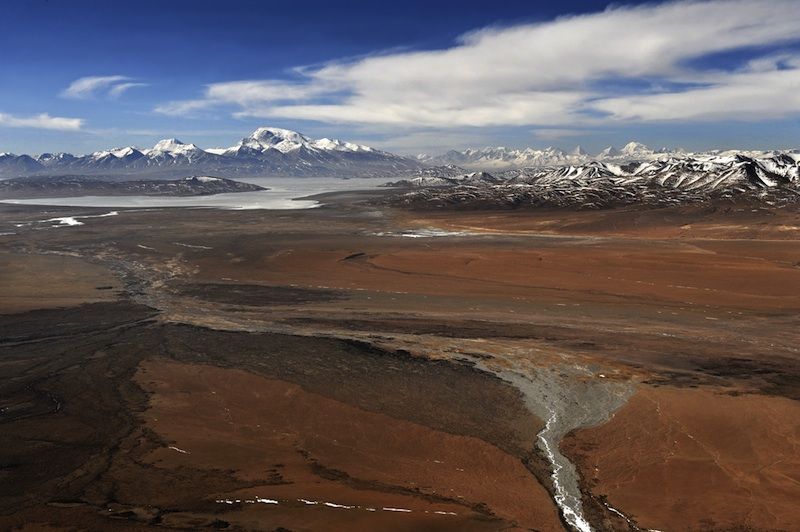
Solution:
<svg viewBox="0 0 800 532"><path fill-rule="evenodd" d="M9 0L0 152L800 146L800 2Z"/></svg>

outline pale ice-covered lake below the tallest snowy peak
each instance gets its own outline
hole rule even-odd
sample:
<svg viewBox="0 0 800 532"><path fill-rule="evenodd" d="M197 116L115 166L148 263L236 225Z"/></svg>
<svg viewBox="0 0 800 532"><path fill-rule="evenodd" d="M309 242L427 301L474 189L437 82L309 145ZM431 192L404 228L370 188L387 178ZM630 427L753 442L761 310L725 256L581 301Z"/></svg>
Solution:
<svg viewBox="0 0 800 532"><path fill-rule="evenodd" d="M34 198L3 200L3 203L22 205L62 205L70 207L211 207L218 209L312 209L320 203L297 200L314 194L377 188L389 179L381 178L319 178L319 177L254 177L238 181L253 183L269 190L237 192L213 196L78 196L64 198Z"/></svg>

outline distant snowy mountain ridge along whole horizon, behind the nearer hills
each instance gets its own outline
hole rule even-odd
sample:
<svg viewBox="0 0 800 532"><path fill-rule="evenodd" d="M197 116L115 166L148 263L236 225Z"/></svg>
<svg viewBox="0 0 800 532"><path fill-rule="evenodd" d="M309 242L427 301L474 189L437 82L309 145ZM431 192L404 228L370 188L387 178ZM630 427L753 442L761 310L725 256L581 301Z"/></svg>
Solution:
<svg viewBox="0 0 800 532"><path fill-rule="evenodd" d="M509 149L469 148L431 157L408 158L369 146L338 139L312 139L296 131L261 127L228 148L203 149L175 138L157 142L152 148L113 148L88 155L44 153L38 156L0 153L0 178L21 176L104 176L118 180L172 179L185 175L216 175L226 178L260 176L330 177L425 177L452 178L470 171L505 173L525 169L580 168L659 161L730 160L749 157L759 161L797 151L708 151L653 150L631 141L621 149L612 146L591 155L580 146L571 151L557 148ZM726 159L727 158L727 159ZM674 166L677 172L679 166ZM681 167L692 173L696 166ZM716 170L712 164L709 169Z"/></svg>

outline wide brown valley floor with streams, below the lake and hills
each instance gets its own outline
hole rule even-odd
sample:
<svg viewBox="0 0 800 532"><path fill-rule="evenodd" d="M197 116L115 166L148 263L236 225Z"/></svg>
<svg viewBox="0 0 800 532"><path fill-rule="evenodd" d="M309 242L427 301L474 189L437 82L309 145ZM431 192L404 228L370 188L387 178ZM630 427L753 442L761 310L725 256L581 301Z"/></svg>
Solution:
<svg viewBox="0 0 800 532"><path fill-rule="evenodd" d="M0 205L0 529L796 528L800 214L384 193Z"/></svg>

